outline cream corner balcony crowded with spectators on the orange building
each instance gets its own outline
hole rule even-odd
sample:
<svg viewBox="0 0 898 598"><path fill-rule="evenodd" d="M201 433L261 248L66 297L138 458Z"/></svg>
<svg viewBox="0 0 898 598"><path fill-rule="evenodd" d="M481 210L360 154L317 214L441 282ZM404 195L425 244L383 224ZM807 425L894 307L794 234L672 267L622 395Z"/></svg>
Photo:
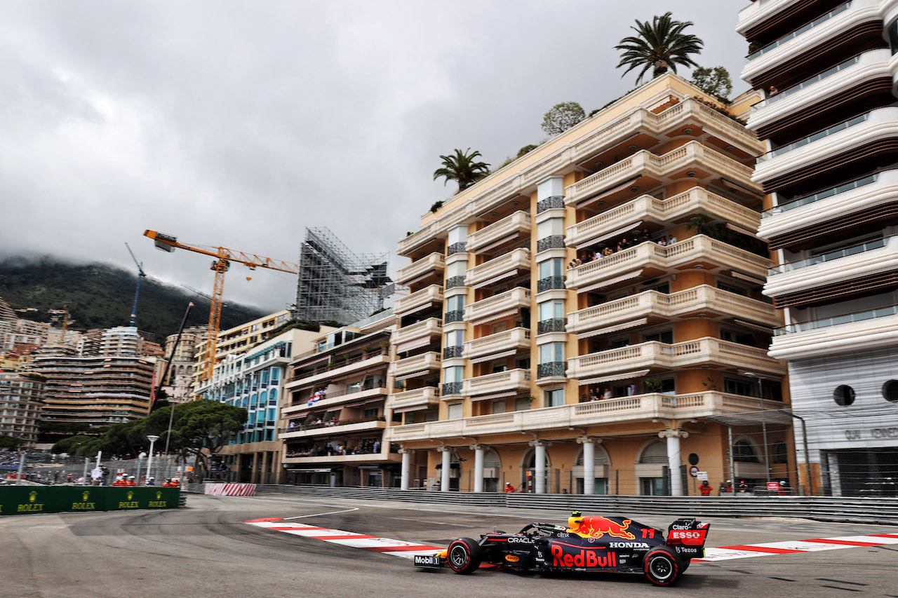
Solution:
<svg viewBox="0 0 898 598"><path fill-rule="evenodd" d="M642 268L642 274L646 277L655 277L666 272L696 267L711 271L733 269L763 279L767 276L767 268L770 268L770 259L697 234L666 247L653 242L640 243L603 259L570 268L567 285L573 289L602 286L603 283L610 283L614 278L638 268Z"/></svg>

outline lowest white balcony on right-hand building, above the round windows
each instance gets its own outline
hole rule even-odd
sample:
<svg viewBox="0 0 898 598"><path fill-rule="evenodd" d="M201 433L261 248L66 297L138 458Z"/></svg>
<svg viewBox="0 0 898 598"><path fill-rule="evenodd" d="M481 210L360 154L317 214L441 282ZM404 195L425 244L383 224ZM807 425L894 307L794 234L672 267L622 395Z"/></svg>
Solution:
<svg viewBox="0 0 898 598"><path fill-rule="evenodd" d="M770 356L778 359L850 354L898 343L898 306L789 324L776 331Z"/></svg>

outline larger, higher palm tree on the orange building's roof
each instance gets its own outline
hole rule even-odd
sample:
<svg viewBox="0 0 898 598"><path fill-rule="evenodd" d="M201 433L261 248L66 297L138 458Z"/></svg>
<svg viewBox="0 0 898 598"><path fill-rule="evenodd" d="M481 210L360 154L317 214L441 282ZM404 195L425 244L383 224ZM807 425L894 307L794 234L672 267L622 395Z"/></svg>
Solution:
<svg viewBox="0 0 898 598"><path fill-rule="evenodd" d="M700 54L705 42L691 33L682 32L691 24L691 21L674 21L671 13L655 15L652 22L639 22L637 19L636 27L630 26L637 35L624 38L614 47L623 50L621 63L617 67L629 65L624 71L624 75L627 75L632 69L641 66L642 70L636 80L638 84L649 68L652 69L652 76L656 77L666 73L668 68L676 73L677 65L698 66L689 55Z"/></svg>

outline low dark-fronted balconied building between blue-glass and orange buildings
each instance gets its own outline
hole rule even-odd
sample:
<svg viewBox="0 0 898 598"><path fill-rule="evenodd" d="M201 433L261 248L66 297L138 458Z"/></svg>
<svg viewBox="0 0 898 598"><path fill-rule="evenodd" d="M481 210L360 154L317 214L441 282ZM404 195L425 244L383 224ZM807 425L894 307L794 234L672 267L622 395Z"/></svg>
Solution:
<svg viewBox="0 0 898 598"><path fill-rule="evenodd" d="M278 435L288 483L399 485L399 446L383 438L392 419L386 401L395 321L388 309L344 328L322 329L313 350L290 365Z"/></svg>

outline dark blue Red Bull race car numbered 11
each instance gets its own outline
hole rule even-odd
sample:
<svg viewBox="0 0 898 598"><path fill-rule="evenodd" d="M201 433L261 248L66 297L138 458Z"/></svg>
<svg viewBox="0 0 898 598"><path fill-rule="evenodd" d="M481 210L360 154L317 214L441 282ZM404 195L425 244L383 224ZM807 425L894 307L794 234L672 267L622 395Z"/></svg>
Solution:
<svg viewBox="0 0 898 598"><path fill-rule="evenodd" d="M472 573L481 563L506 569L643 573L655 585L674 585L692 558L704 556L709 524L677 519L664 532L622 517L584 517L574 511L568 526L530 523L520 532L492 532L480 541L459 538L434 555L417 555L415 567Z"/></svg>

